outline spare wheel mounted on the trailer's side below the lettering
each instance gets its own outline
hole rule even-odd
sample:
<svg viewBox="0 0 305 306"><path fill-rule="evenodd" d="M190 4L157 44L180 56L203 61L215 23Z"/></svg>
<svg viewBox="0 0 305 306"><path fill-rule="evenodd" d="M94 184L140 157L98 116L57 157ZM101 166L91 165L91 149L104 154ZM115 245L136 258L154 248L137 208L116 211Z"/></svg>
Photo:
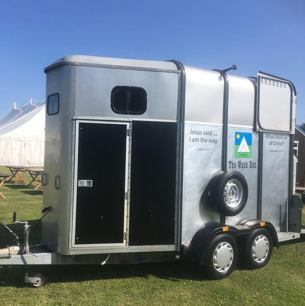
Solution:
<svg viewBox="0 0 305 306"><path fill-rule="evenodd" d="M238 215L248 200L246 178L237 171L221 171L212 182L210 199L223 215Z"/></svg>

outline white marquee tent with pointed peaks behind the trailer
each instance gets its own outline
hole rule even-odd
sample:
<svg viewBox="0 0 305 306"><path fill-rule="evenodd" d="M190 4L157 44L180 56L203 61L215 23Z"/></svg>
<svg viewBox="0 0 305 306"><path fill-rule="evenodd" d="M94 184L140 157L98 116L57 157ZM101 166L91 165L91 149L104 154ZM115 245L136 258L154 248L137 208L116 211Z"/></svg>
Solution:
<svg viewBox="0 0 305 306"><path fill-rule="evenodd" d="M45 102L16 108L0 118L0 165L42 166Z"/></svg>

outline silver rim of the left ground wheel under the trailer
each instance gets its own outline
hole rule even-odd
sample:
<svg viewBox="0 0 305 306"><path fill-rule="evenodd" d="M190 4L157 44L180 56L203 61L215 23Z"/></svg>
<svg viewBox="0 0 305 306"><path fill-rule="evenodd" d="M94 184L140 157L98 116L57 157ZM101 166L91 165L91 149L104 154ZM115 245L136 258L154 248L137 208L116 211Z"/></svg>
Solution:
<svg viewBox="0 0 305 306"><path fill-rule="evenodd" d="M213 254L213 265L218 272L226 272L232 265L234 251L230 243L218 244Z"/></svg>

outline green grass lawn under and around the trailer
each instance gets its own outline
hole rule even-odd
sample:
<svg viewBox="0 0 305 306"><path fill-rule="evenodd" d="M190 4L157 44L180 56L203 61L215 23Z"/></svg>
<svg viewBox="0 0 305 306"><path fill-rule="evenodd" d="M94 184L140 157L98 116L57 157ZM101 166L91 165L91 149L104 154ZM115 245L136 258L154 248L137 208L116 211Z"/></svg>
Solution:
<svg viewBox="0 0 305 306"><path fill-rule="evenodd" d="M7 172L0 167L0 172ZM40 240L42 190L21 184L5 183L1 188L0 221L22 237L22 226L12 224L28 220L30 243ZM303 211L304 216L304 211ZM305 220L305 216L303 218ZM303 222L304 224L304 222ZM0 230L3 247L7 233ZM304 305L305 237L273 248L266 267L244 270L239 267L224 280L209 281L189 262L139 265L40 266L48 277L46 286L32 289L23 282L25 267L0 269L0 300L3 305Z"/></svg>

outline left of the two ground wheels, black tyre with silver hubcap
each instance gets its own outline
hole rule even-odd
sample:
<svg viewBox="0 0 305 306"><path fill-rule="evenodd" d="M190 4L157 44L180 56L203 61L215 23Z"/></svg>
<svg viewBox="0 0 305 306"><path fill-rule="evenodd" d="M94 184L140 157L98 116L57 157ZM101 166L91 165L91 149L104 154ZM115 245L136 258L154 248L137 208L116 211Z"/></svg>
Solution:
<svg viewBox="0 0 305 306"><path fill-rule="evenodd" d="M237 243L231 235L214 237L207 248L204 266L209 278L220 280L228 277L236 267L237 257Z"/></svg>

